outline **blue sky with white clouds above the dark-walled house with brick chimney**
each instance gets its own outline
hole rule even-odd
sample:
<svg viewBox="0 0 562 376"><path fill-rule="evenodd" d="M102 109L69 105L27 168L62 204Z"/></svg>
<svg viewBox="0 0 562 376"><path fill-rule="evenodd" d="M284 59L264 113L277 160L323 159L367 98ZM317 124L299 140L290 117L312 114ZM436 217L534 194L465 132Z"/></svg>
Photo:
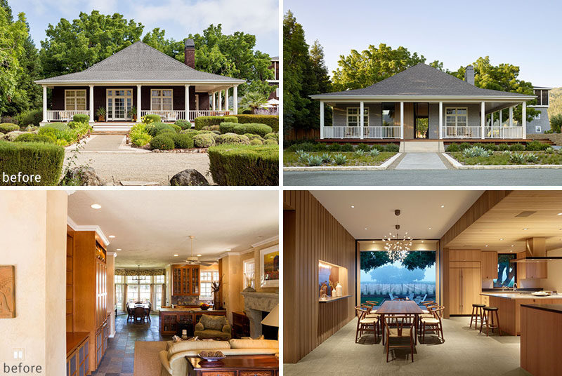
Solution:
<svg viewBox="0 0 562 376"><path fill-rule="evenodd" d="M24 12L37 48L46 38L48 24L60 18L74 20L80 11L96 9L104 14L121 13L145 28L166 30L176 40L201 33L211 23L223 24L223 32L256 35L256 48L279 55L279 2L277 0L8 0L14 14Z"/></svg>

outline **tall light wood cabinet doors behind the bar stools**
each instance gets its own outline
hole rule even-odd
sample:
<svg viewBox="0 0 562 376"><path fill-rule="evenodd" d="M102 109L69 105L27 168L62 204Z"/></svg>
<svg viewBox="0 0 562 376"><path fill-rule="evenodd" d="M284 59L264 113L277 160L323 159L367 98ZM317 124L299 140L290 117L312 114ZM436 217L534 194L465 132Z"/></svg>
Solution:
<svg viewBox="0 0 562 376"><path fill-rule="evenodd" d="M472 304L481 301L481 271L476 267L452 267L449 269L449 313L471 314Z"/></svg>

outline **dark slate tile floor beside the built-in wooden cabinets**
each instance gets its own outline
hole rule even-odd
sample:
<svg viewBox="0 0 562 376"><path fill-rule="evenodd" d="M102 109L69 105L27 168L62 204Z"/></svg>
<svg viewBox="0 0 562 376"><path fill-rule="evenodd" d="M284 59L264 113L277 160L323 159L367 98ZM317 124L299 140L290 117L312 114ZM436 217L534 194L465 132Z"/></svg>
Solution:
<svg viewBox="0 0 562 376"><path fill-rule="evenodd" d="M136 341L167 341L158 330L159 318L150 315L152 322L133 323L126 321L126 315L119 315L115 320L115 337L109 344L100 366L92 376L133 376L133 359Z"/></svg>

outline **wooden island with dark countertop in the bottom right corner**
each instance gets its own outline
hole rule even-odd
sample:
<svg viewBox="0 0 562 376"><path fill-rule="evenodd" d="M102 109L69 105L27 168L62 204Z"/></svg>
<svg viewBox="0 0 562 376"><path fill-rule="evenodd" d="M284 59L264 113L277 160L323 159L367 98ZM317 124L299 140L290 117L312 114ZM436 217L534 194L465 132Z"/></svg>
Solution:
<svg viewBox="0 0 562 376"><path fill-rule="evenodd" d="M562 304L521 304L521 368L534 376L562 375L561 338Z"/></svg>

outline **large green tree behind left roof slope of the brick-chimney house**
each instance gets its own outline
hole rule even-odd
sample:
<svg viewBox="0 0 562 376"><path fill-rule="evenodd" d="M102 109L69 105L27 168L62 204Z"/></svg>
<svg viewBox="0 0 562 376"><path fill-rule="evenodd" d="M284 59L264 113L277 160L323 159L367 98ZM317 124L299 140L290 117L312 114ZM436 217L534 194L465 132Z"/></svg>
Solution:
<svg viewBox="0 0 562 376"><path fill-rule="evenodd" d="M81 12L72 22L61 18L48 25L41 41L42 74L45 77L79 72L140 40L143 25L123 15Z"/></svg>

